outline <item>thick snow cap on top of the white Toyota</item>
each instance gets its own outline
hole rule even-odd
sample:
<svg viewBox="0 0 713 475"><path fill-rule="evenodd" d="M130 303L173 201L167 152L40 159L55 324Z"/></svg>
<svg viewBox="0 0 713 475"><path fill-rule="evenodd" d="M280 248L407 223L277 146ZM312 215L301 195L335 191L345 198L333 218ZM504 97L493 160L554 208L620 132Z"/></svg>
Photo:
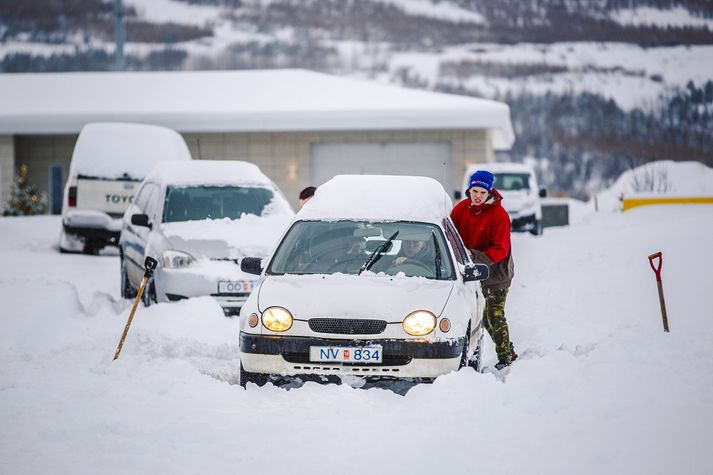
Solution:
<svg viewBox="0 0 713 475"><path fill-rule="evenodd" d="M70 174L143 179L160 160L191 160L178 132L145 124L90 123L82 128L72 153Z"/></svg>

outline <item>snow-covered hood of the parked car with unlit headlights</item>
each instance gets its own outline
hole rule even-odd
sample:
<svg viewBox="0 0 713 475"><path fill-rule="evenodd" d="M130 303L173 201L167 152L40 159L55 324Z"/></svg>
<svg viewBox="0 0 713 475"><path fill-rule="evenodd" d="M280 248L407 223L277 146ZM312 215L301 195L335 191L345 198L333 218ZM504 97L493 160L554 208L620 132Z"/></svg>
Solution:
<svg viewBox="0 0 713 475"><path fill-rule="evenodd" d="M240 219L164 223L161 232L171 249L187 252L196 259L267 256L291 218L289 215L248 215Z"/></svg>

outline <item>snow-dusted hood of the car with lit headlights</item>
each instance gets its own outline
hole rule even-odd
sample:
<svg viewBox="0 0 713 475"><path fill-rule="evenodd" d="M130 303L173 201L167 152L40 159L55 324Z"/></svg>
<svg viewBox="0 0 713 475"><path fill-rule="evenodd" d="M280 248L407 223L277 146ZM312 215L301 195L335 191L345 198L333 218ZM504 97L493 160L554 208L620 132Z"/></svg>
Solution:
<svg viewBox="0 0 713 475"><path fill-rule="evenodd" d="M453 281L381 275L267 276L260 286L258 308L277 305L294 318L378 318L400 322L414 310L439 316Z"/></svg>

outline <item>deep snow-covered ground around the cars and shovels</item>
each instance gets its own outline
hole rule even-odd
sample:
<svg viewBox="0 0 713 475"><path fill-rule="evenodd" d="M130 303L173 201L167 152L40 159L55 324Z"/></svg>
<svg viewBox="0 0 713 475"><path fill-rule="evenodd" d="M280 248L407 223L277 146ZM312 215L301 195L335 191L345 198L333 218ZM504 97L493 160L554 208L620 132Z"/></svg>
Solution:
<svg viewBox="0 0 713 475"><path fill-rule="evenodd" d="M238 322L210 298L140 307L112 362L118 258L59 254L59 226L0 218L3 474L713 471L713 206L515 235L521 358L504 381L468 368L405 396L242 390Z"/></svg>

